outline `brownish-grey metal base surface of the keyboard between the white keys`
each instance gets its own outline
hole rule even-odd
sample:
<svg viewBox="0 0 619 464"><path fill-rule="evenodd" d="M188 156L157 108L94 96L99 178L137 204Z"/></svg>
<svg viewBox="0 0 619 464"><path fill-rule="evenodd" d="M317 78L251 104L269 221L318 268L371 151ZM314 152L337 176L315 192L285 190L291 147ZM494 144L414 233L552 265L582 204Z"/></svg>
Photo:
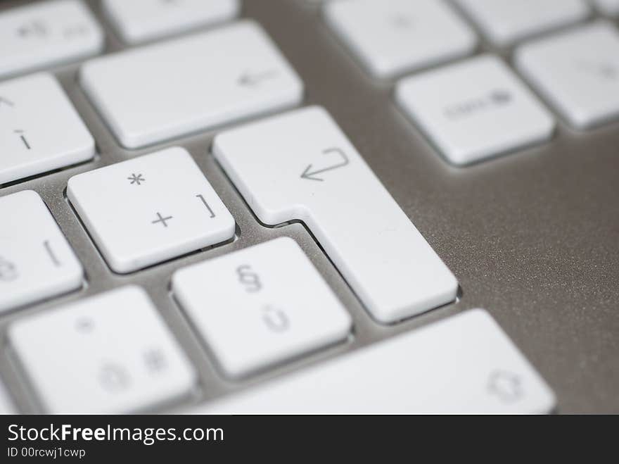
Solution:
<svg viewBox="0 0 619 464"><path fill-rule="evenodd" d="M25 1L0 1L0 10ZM98 2L89 1L107 32L106 53L122 49ZM575 132L564 123L544 145L454 168L397 109L393 81L359 67L321 18L302 0L245 0L242 15L259 21L306 85L304 104L330 111L366 161L461 284L456 303L397 325L371 320L311 234L298 223L264 227L210 154L214 131L129 151L116 142L77 85L78 64L53 68L97 144L94 161L0 187L42 195L86 268L81 291L0 316L0 375L24 412L40 410L13 362L6 326L38 311L122 284L142 285L198 369L185 404L285 374L324 358L445 318L487 308L556 391L563 413L619 413L619 123ZM479 51L491 50L482 44ZM510 51L497 51L509 60ZM72 175L184 146L238 223L234 242L192 253L131 275L110 271L65 199ZM1 218L1 221L11 218ZM170 294L174 270L274 237L296 239L350 311L345 344L294 360L242 382L219 375L214 358ZM428 353L431 356L431 353ZM178 406L178 403L167 406ZM166 410L161 406L158 410Z"/></svg>

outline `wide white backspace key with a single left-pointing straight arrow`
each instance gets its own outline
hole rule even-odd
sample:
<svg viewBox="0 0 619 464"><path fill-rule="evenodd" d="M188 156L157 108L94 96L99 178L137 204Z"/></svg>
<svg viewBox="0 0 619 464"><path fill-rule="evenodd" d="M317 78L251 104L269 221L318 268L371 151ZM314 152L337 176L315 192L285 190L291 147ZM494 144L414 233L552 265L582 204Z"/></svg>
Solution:
<svg viewBox="0 0 619 464"><path fill-rule="evenodd" d="M81 81L129 148L293 106L303 93L286 59L250 21L96 58Z"/></svg>

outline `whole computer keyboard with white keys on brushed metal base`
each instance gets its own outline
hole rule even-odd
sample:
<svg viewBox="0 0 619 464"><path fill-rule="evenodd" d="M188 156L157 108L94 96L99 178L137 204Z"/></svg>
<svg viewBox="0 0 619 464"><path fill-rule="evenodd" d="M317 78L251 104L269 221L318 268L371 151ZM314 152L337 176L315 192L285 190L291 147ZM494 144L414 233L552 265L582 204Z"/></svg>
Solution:
<svg viewBox="0 0 619 464"><path fill-rule="evenodd" d="M618 410L618 14L4 1L0 412Z"/></svg>

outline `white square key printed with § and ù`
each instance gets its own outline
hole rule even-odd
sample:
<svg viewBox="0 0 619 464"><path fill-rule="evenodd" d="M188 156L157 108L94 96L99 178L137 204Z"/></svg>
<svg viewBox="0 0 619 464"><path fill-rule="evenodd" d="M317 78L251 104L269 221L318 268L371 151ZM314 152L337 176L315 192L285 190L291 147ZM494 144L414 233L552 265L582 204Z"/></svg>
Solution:
<svg viewBox="0 0 619 464"><path fill-rule="evenodd" d="M181 269L172 291L229 377L342 341L352 325L289 238Z"/></svg>

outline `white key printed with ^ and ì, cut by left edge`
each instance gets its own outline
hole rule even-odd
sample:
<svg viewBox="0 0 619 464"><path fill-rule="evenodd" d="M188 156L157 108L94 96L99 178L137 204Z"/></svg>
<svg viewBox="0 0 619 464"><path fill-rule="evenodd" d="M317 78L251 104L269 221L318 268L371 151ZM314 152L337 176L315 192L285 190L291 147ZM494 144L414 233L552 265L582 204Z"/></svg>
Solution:
<svg viewBox="0 0 619 464"><path fill-rule="evenodd" d="M0 184L87 161L94 139L53 76L0 82Z"/></svg>

